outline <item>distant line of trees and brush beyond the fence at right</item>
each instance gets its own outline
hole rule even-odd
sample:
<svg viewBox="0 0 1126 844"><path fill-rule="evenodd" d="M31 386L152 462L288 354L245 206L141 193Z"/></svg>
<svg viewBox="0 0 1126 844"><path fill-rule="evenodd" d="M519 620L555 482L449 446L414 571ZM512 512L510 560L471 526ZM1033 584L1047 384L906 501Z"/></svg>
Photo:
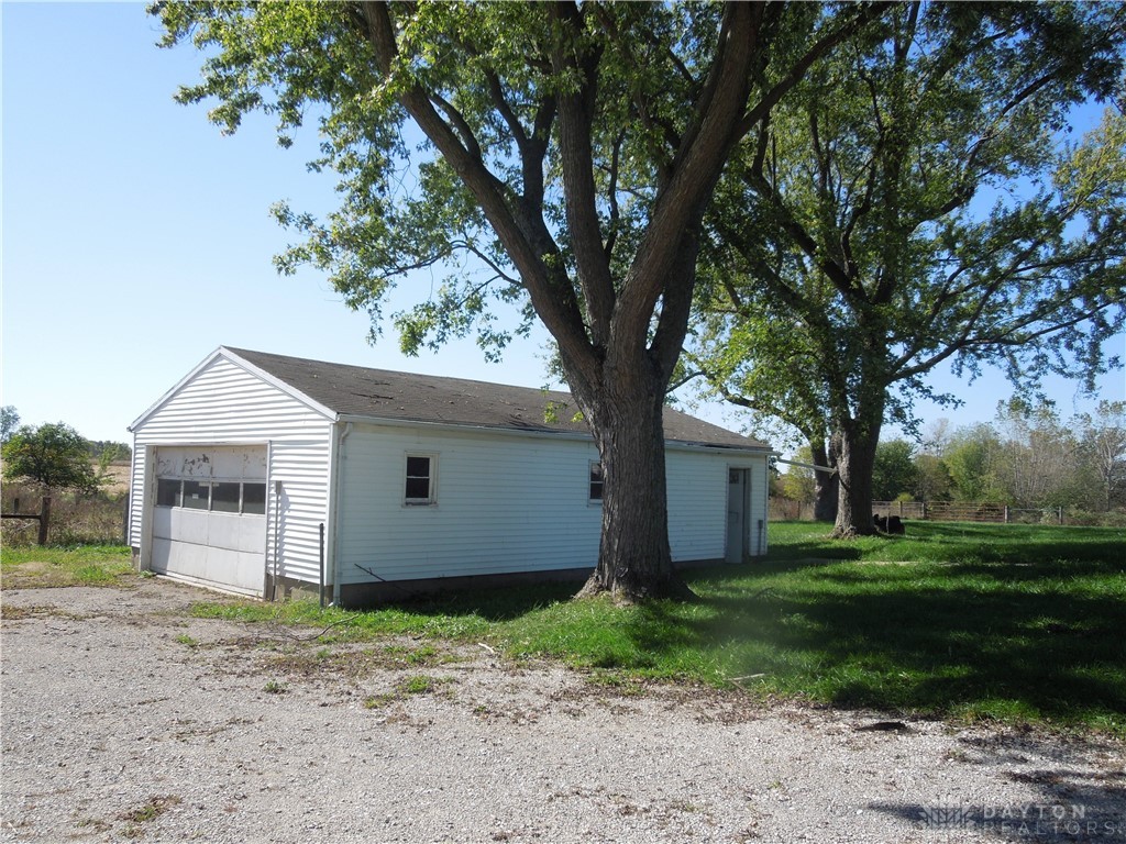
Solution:
<svg viewBox="0 0 1126 844"><path fill-rule="evenodd" d="M808 459L798 450L797 460ZM813 473L792 467L780 495L814 500ZM1051 404L1012 398L994 422L950 430L939 420L919 442L876 448L877 501L991 502L1015 508L1126 509L1126 402L1100 402L1063 422Z"/></svg>

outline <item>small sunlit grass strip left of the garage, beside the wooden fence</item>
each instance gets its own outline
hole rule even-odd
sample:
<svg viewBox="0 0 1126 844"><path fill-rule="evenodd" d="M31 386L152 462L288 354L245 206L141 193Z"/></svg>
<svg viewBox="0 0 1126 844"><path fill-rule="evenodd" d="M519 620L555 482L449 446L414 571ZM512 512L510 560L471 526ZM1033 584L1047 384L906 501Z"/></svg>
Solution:
<svg viewBox="0 0 1126 844"><path fill-rule="evenodd" d="M134 576L124 545L5 546L0 577L5 589L119 585Z"/></svg>

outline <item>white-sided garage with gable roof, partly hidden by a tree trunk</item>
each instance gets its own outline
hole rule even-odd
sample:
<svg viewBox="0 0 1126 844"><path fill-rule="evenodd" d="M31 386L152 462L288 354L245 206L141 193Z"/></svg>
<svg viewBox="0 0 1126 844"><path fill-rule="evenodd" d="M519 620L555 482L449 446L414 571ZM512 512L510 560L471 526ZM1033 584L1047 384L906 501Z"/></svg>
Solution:
<svg viewBox="0 0 1126 844"><path fill-rule="evenodd" d="M142 569L345 605L584 577L601 479L574 413L566 393L221 347L129 427L129 542ZM673 559L765 554L769 447L673 410L664 428Z"/></svg>

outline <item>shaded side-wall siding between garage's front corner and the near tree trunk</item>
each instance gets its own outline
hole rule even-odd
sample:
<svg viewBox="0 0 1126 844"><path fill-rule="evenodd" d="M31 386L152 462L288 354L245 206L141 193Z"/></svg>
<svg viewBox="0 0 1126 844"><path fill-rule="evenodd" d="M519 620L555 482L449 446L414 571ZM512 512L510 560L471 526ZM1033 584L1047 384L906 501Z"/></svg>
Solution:
<svg viewBox="0 0 1126 844"><path fill-rule="evenodd" d="M437 457L437 503L404 504L408 452ZM357 425L341 479L341 582L593 567L593 443Z"/></svg>

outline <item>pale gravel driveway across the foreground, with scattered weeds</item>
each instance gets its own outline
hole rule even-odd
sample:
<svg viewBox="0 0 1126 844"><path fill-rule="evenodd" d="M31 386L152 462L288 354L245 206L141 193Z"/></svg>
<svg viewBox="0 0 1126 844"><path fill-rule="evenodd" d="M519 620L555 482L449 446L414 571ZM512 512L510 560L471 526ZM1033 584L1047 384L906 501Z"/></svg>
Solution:
<svg viewBox="0 0 1126 844"><path fill-rule="evenodd" d="M1118 743L325 645L204 596L3 592L3 841L1126 842Z"/></svg>

